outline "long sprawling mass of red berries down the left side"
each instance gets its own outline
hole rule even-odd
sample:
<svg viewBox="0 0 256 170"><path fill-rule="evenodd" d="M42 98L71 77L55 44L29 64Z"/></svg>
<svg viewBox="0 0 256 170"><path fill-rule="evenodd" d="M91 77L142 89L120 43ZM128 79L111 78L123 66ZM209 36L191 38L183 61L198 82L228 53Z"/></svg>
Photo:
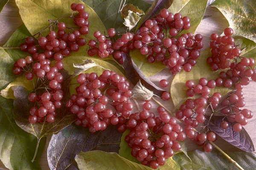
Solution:
<svg viewBox="0 0 256 170"><path fill-rule="evenodd" d="M61 82L63 81L63 75L61 70L63 68L63 62L61 61L64 56L70 54L70 51L78 51L79 46L86 44L86 40L81 34L88 34L89 22L87 21L89 15L84 11L83 4L71 5L71 9L78 11L79 13L73 18L74 23L78 25L78 30L68 28L65 23L58 22L58 20L49 20L50 25L46 28L52 28L52 23L57 25L57 34L55 31L50 31L46 37L41 36L41 32L38 33L38 40L33 37L27 37L26 42L20 45L22 51L28 51L31 56L27 56L25 59L18 59L14 64L13 73L19 75L25 72L25 77L28 80L32 80L34 76L37 76L37 82L34 86L34 91L29 94L28 99L30 102L35 102L35 106L29 111L29 122L42 122L46 116L47 122L54 122L56 112L55 108L61 108L61 99L64 96L61 91ZM69 34L65 32L68 29ZM70 33L70 30L73 30ZM41 37L39 37L41 36ZM58 36L58 37L57 37ZM38 45L35 45L38 43ZM38 49L37 47L40 46ZM41 53L39 53L41 51ZM51 62L55 66L50 67Z"/></svg>

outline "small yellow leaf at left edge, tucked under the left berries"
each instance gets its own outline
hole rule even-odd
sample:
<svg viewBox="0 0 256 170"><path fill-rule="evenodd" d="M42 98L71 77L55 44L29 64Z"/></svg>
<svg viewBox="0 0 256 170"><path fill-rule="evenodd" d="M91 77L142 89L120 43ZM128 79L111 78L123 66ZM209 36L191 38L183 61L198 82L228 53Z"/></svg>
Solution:
<svg viewBox="0 0 256 170"><path fill-rule="evenodd" d="M35 82L36 79L37 79L37 77L34 77L32 80L28 80L28 79L26 79L26 77L24 75L17 77L5 89L1 90L0 95L5 97L6 99L15 99L13 90L11 88L12 86L20 85L20 86L26 88L28 91L32 91L34 89L33 82Z"/></svg>

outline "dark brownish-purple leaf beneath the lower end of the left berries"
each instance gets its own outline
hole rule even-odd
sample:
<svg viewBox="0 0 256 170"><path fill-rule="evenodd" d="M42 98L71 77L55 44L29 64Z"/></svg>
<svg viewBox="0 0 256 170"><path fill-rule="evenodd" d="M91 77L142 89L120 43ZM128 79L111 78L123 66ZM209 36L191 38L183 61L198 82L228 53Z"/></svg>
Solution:
<svg viewBox="0 0 256 170"><path fill-rule="evenodd" d="M70 76L67 71L61 73L63 75L63 82L61 83L63 95L63 106L60 109L56 109L55 121L48 123L46 118L43 122L36 122L31 124L28 121L29 109L34 106L34 103L29 102L29 91L21 86L13 86L15 100L13 102L14 108L12 110L16 124L28 133L35 135L39 140L44 136L52 135L58 132L62 128L70 125L76 120L76 115L70 112L69 108L65 107L65 102L70 99Z"/></svg>

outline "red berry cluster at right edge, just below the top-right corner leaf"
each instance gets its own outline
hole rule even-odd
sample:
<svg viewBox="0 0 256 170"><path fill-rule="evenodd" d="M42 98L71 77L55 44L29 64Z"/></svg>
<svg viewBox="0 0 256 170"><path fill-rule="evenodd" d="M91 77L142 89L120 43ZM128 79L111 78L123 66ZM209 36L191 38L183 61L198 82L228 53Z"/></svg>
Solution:
<svg viewBox="0 0 256 170"><path fill-rule="evenodd" d="M243 85L249 84L249 78L256 81L256 69L253 58L241 57L241 49L235 44L232 28L225 28L225 36L218 34L211 35L210 48L212 56L207 58L207 63L211 65L213 71L219 69L228 69L221 71L219 78L216 79L218 85L224 85L230 88L233 83L241 82Z"/></svg>

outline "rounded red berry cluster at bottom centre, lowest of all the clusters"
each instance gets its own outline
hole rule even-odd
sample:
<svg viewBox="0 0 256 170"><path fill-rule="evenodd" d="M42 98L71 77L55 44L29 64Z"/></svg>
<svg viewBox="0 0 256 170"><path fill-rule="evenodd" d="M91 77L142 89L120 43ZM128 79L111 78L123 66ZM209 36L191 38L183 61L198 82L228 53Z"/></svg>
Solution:
<svg viewBox="0 0 256 170"><path fill-rule="evenodd" d="M163 107L157 108L159 116L150 112L150 102L145 102L143 108L129 116L126 127L131 131L125 141L131 147L132 156L143 165L157 169L174 155L174 150L181 149L177 140L183 141L186 136L176 118L170 117Z"/></svg>

